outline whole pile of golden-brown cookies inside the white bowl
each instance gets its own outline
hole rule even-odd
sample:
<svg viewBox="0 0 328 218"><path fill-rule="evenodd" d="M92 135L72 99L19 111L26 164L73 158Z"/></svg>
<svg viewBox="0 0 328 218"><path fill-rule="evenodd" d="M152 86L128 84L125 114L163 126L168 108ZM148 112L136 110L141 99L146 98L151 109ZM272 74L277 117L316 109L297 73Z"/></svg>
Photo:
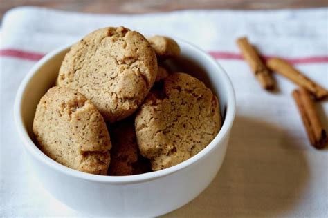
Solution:
<svg viewBox="0 0 328 218"><path fill-rule="evenodd" d="M145 39L124 27L88 34L39 101L39 148L98 175L161 170L196 155L221 128L219 102L198 79L164 67L179 54L173 39Z"/></svg>

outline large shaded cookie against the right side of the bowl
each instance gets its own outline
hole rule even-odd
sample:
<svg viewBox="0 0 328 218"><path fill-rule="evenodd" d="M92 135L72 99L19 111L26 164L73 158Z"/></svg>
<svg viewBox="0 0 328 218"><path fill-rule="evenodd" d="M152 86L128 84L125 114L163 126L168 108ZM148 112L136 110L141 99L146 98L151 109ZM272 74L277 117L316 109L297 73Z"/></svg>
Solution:
<svg viewBox="0 0 328 218"><path fill-rule="evenodd" d="M189 159L205 148L221 128L219 102L203 82L176 72L152 90L138 110L136 137L152 170Z"/></svg>

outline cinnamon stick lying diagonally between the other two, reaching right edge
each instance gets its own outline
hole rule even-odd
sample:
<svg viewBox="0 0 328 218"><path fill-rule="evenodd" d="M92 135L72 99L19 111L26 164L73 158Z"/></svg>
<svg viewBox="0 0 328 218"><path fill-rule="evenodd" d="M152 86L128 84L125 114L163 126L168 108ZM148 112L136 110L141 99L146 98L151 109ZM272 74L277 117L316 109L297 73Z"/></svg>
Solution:
<svg viewBox="0 0 328 218"><path fill-rule="evenodd" d="M314 81L311 81L308 77L302 75L300 71L293 68L293 66L283 59L271 58L266 62L266 66L280 75L290 79L294 83L298 84L298 86L306 88L316 97L316 99L322 99L328 96L328 91L325 90L325 88L322 88Z"/></svg>

